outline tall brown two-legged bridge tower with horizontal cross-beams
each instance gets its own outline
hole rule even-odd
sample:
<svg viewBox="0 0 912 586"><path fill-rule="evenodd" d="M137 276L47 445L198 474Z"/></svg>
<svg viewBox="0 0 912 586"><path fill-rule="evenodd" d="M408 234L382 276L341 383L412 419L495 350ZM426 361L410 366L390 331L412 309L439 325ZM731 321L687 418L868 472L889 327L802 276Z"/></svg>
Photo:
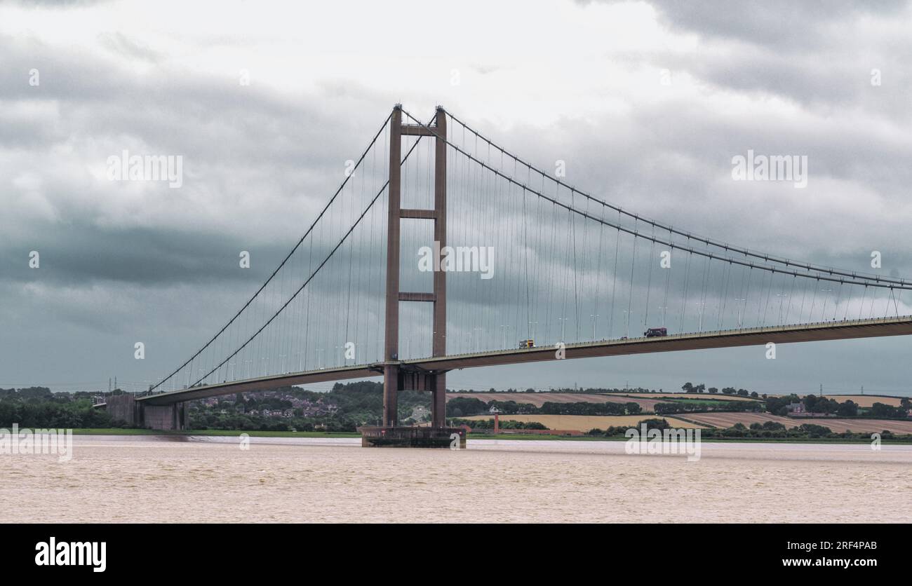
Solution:
<svg viewBox="0 0 912 586"><path fill-rule="evenodd" d="M397 104L389 121L389 227L387 236L386 340L383 365L383 425L399 424L397 393L402 389L430 391L431 426L446 425L446 371L403 371L399 365L399 302L433 303L432 355L447 354L447 279L446 272L434 271L433 293L399 291L400 223L403 218L434 221L434 240L443 250L447 245L447 119L437 108L433 131L418 124L402 123L402 108ZM433 137L434 209L403 210L401 207L402 136ZM435 267L436 269L437 267Z"/></svg>

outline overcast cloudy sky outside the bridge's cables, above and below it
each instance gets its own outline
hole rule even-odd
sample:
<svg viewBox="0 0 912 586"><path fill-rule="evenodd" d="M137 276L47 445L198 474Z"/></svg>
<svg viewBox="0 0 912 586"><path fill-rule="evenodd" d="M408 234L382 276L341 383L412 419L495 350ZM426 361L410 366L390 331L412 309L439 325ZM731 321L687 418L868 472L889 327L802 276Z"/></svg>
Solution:
<svg viewBox="0 0 912 586"><path fill-rule="evenodd" d="M117 375L138 390L179 365L397 102L422 118L441 104L659 221L912 275L912 7L858 4L0 5L0 386ZM181 154L181 188L109 180L124 149ZM732 180L748 149L806 155L807 187ZM907 392L910 350L886 338L781 346L775 361L762 347L589 359L449 386Z"/></svg>

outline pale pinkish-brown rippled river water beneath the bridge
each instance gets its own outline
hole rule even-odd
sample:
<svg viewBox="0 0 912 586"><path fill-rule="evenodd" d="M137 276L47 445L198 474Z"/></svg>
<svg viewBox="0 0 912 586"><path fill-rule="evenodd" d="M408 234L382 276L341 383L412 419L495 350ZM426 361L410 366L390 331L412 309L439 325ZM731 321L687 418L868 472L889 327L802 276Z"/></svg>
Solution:
<svg viewBox="0 0 912 586"><path fill-rule="evenodd" d="M912 447L73 437L73 458L0 455L0 521L912 521Z"/></svg>

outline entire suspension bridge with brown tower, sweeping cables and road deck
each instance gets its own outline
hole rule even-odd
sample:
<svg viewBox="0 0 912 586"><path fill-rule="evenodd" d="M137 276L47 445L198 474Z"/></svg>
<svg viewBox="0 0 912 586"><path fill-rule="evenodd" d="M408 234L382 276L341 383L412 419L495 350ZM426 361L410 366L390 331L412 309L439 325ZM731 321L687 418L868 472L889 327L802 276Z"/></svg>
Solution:
<svg viewBox="0 0 912 586"><path fill-rule="evenodd" d="M422 121L397 105L353 162L223 326L109 409L182 428L186 401L382 376L384 429L397 393L421 390L446 430L455 369L912 334L906 279L621 209L444 108Z"/></svg>

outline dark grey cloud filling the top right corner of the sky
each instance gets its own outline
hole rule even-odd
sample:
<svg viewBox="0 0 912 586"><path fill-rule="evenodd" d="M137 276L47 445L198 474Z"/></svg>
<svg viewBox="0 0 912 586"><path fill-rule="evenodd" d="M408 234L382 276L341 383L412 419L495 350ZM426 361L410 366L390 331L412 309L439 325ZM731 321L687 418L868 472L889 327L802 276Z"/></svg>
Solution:
<svg viewBox="0 0 912 586"><path fill-rule="evenodd" d="M720 87L790 98L814 108L864 104L890 117L908 118L904 96L912 78L903 59L912 40L901 28L888 26L908 19L905 0L744 5L659 0L650 5L672 30L696 34L710 49L696 59L663 56L666 67ZM875 32L872 23L886 25L886 31ZM889 80L885 87L865 83L873 69Z"/></svg>

